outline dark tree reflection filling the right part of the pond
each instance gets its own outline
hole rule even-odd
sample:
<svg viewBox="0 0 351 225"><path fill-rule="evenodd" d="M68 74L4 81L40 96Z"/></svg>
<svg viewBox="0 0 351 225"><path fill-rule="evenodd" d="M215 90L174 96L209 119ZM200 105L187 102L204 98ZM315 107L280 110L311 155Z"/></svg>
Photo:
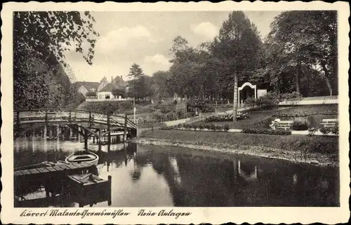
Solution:
<svg viewBox="0 0 351 225"><path fill-rule="evenodd" d="M333 170L176 147L138 147L138 165L145 166L141 158L152 163L157 175L166 179L176 206L338 205Z"/></svg>

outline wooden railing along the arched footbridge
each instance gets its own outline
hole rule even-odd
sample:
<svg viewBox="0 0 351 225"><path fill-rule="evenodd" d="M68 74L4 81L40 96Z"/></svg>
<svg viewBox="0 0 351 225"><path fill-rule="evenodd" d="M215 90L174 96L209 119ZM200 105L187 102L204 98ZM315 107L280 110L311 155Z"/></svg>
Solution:
<svg viewBox="0 0 351 225"><path fill-rule="evenodd" d="M102 124L110 123L110 125L124 126L125 120L128 128L137 128L135 123L128 118L113 114L102 114L96 111L77 109L31 109L29 111L14 111L13 113L14 125L20 125L20 123L26 121L36 121L37 123L79 121Z"/></svg>

